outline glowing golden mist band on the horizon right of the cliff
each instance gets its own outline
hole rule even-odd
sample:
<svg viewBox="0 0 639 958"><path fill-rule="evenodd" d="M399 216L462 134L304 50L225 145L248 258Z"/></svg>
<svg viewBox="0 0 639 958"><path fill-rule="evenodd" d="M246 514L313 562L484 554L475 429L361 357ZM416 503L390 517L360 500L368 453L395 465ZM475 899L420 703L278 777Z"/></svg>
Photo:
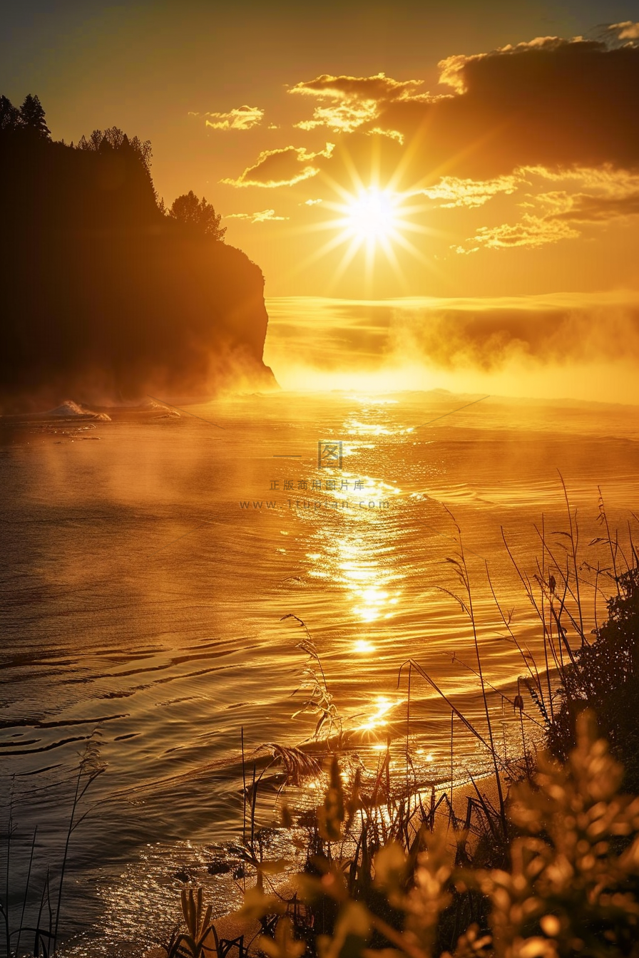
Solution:
<svg viewBox="0 0 639 958"><path fill-rule="evenodd" d="M639 300L631 290L266 302L264 360L287 390L636 401Z"/></svg>

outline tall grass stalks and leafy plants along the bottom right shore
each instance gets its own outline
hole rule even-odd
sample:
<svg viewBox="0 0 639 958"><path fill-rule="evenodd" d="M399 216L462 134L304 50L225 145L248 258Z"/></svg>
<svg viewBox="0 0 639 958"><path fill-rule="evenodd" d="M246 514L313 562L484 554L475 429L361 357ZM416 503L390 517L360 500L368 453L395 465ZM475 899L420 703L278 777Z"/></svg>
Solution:
<svg viewBox="0 0 639 958"><path fill-rule="evenodd" d="M253 831L245 842L244 860L257 873L241 913L254 924L249 951L268 958L301 958L305 953L318 958L639 956L639 798L627 793L639 792L634 707L639 687L639 558L631 534L628 559L617 536L610 535L600 497L605 536L590 545L606 546L610 565L602 566L600 558L596 565L581 559L577 514L570 509L565 486L563 490L569 532L555 534L558 545L542 523L536 574L521 570L506 544L542 627L540 666L514 633L512 614L497 603L489 577L503 625L528 672L523 686L536 705L541 721L535 724L545 734L551 755L535 759L528 751L523 720L533 721L534 715L525 712L519 682L512 701L501 697L513 706L513 720L521 724L523 759L509 762L498 751L468 566L455 523L459 549L451 561L462 594L445 591L462 605L472 624L477 657L477 670L472 671L481 683L488 737L445 700L491 754L497 807L474 781L476 798L468 798L465 821L453 809L452 791L450 801L444 792L437 803L433 791L429 809L424 809L417 781L412 795L408 781L405 793L391 794L390 752L373 791L355 778L347 798L335 760L324 806L304 823L308 860L303 875L279 888L271 885L274 894L265 895L269 872L282 866L264 861L262 847L259 855L255 850L249 855ZM587 573L592 581L585 578ZM616 594L606 603L607 621L598 627L596 600L604 594L600 582L614 583ZM593 630L584 604L586 587L593 589L595 599ZM308 629L297 621L307 631L300 648L308 651L310 676L315 678L306 707L319 713L316 735L324 724L329 734L338 726L339 747L342 726L326 676ZM419 663L411 660L407 665L445 697ZM598 737L595 713L605 739ZM406 747L408 766L408 737ZM524 780L506 795L502 775L504 784ZM223 958L230 944L220 940L216 948L204 947L199 954L217 951ZM241 958L244 942L234 944ZM191 954L181 948L171 958Z"/></svg>

